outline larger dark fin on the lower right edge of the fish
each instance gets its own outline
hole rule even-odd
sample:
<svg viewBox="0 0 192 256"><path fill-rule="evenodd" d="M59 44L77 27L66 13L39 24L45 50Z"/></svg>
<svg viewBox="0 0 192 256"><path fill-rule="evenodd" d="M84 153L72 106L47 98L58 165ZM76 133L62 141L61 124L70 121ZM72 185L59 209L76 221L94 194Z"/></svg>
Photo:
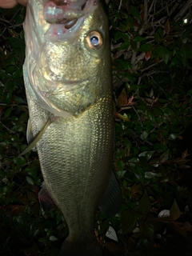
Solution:
<svg viewBox="0 0 192 256"><path fill-rule="evenodd" d="M118 213L122 206L122 192L118 185L118 180L112 171L110 175L110 182L106 188L105 194L99 203L99 209L106 217L110 218Z"/></svg>

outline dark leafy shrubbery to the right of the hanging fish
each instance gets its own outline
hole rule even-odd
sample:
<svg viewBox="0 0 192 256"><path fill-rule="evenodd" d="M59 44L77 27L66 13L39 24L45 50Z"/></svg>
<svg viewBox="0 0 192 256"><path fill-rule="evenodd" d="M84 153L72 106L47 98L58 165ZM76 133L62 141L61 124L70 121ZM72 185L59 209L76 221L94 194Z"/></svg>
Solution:
<svg viewBox="0 0 192 256"><path fill-rule="evenodd" d="M182 179L189 154L179 143L192 113L189 6L190 1L110 2L114 168L122 183L119 233L128 240L127 250L161 247L172 228L184 237L191 231L191 190ZM161 217L165 209L169 214Z"/></svg>

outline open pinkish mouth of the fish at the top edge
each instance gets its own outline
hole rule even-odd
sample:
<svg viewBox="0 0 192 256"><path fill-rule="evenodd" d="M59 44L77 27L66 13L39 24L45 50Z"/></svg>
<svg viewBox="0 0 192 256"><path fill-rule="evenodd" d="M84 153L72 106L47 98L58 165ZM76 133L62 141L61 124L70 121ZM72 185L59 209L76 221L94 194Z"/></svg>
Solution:
<svg viewBox="0 0 192 256"><path fill-rule="evenodd" d="M50 34L61 36L90 14L98 5L98 0L42 0L42 3L44 19L47 23L54 25L54 31L52 31L54 33Z"/></svg>

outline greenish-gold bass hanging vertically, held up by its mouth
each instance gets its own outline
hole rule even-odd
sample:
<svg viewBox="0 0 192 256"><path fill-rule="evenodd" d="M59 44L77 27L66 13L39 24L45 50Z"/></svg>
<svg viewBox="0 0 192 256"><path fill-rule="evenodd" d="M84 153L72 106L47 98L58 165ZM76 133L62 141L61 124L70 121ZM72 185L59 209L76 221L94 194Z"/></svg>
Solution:
<svg viewBox="0 0 192 256"><path fill-rule="evenodd" d="M23 24L27 141L37 147L43 209L62 211L69 234L59 256L99 256L99 208L117 214L109 27L98 0L29 0Z"/></svg>

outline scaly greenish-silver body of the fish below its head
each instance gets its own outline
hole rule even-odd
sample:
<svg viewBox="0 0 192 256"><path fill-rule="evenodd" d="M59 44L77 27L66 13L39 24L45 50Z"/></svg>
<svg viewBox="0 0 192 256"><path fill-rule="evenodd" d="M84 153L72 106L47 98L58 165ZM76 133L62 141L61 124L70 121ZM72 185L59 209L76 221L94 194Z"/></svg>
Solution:
<svg viewBox="0 0 192 256"><path fill-rule="evenodd" d="M29 102L30 121L34 126L34 134L37 134L39 119L46 120L50 113L42 109L33 91L28 89L26 96ZM58 118L37 144L46 188L66 217L69 229L70 222L73 228L74 222L78 222L79 218L87 222L86 216L80 215L79 209L82 207L82 214L93 209L89 217L92 220L91 226L86 227L93 232L95 210L111 172L113 127L109 92L105 98L101 98L100 102L91 106L78 118ZM104 189L101 190L101 187ZM78 195L77 191L81 193ZM98 194L98 197L94 201L95 194ZM69 198L73 199L69 201ZM69 220L67 216L70 216ZM79 234L81 233L82 227L79 228ZM75 236L79 238L79 234L78 229L75 229Z"/></svg>

